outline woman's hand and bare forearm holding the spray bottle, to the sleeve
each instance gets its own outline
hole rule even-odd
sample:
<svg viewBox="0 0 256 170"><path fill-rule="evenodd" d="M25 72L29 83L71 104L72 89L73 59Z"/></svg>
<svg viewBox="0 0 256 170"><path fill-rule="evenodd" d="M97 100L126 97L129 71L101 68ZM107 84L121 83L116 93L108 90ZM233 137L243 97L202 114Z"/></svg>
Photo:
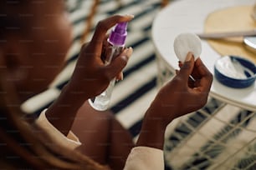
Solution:
<svg viewBox="0 0 256 170"><path fill-rule="evenodd" d="M90 97L103 92L110 80L118 76L131 56L132 48L125 49L108 66L100 55L106 32L116 23L129 22L133 17L115 15L98 23L91 42L84 44L69 83L46 111L49 122L64 135L69 133L74 117L82 104Z"/></svg>

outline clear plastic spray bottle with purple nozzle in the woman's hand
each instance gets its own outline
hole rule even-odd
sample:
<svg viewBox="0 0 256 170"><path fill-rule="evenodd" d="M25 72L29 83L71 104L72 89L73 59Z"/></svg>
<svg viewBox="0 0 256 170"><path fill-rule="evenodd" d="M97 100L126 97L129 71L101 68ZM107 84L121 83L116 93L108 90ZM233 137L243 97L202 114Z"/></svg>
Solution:
<svg viewBox="0 0 256 170"><path fill-rule="evenodd" d="M118 23L115 28L110 32L110 37L108 38L108 45L105 47L105 52L103 59L105 65L110 64L113 58L117 57L120 52L123 51L125 47L125 39L127 36L127 24L128 23ZM90 98L89 103L95 110L105 111L110 104L110 97L115 86L115 78L110 81L109 86L102 92L99 96L95 98Z"/></svg>

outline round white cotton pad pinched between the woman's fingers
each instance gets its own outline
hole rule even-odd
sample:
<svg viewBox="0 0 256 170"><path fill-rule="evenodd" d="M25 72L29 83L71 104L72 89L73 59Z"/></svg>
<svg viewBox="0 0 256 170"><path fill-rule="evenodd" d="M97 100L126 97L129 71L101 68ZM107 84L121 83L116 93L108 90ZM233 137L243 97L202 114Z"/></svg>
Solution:
<svg viewBox="0 0 256 170"><path fill-rule="evenodd" d="M195 60L197 60L197 57L202 52L201 40L194 33L179 34L174 40L173 47L174 52L181 62L185 61L188 52L192 52Z"/></svg>

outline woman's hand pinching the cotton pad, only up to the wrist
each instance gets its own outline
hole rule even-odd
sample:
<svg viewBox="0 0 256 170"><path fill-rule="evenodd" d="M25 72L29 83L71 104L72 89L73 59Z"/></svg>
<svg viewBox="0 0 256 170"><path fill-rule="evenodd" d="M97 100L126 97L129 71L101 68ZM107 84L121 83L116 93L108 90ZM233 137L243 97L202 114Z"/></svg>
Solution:
<svg viewBox="0 0 256 170"><path fill-rule="evenodd" d="M211 85L212 73L208 71L200 58L194 62L194 57L189 52L180 71L172 81L161 88L151 107L158 108L161 115L159 113L157 115L162 117L167 124L173 118L203 107L207 102Z"/></svg>

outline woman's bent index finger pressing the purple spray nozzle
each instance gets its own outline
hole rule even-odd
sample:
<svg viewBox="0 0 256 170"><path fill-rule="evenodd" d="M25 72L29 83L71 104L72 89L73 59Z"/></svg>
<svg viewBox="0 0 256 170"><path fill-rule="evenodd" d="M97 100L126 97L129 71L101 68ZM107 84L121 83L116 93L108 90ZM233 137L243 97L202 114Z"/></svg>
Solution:
<svg viewBox="0 0 256 170"><path fill-rule="evenodd" d="M95 44L96 48L99 46L101 47L101 43L105 39L105 34L110 28L115 26L116 23L129 22L132 18L134 18L133 15L114 15L110 18L101 20L95 28L95 33L91 42Z"/></svg>

